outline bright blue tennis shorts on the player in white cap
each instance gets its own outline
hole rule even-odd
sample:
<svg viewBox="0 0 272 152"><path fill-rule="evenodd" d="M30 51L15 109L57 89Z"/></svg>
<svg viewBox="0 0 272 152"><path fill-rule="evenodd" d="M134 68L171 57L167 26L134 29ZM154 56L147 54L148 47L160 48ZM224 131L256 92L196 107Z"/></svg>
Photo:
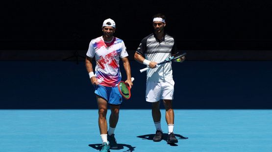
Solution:
<svg viewBox="0 0 272 152"><path fill-rule="evenodd" d="M95 94L104 98L110 105L121 105L122 95L120 94L118 87L107 87L98 85L95 87Z"/></svg>

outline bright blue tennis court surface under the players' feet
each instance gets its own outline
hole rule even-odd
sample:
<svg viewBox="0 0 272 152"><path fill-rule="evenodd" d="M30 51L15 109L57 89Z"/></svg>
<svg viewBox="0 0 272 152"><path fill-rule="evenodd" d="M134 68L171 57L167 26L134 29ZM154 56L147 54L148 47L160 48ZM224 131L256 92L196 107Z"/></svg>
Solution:
<svg viewBox="0 0 272 152"><path fill-rule="evenodd" d="M115 132L118 150L111 152L272 151L272 110L175 110L175 145L166 143L161 112L164 140L153 142L150 110L121 109ZM0 110L0 120L0 152L100 149L97 110Z"/></svg>

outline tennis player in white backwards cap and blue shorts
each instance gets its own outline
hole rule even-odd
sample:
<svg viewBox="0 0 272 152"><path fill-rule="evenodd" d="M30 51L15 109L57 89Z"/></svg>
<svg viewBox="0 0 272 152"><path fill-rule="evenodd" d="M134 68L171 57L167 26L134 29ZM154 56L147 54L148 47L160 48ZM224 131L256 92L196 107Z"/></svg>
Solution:
<svg viewBox="0 0 272 152"><path fill-rule="evenodd" d="M115 139L115 128L119 119L122 95L118 90L118 82L121 81L119 60L124 63L127 76L126 83L132 87L130 64L124 41L113 36L115 22L112 19L104 20L102 24L103 36L92 39L89 44L86 57L86 69L92 84L95 86L95 95L99 109L99 130L102 139L101 152L109 152L109 149L117 149ZM96 59L95 73L93 71L92 59ZM107 106L110 105L111 114L109 118L109 129L107 130ZM108 142L109 141L109 142Z"/></svg>

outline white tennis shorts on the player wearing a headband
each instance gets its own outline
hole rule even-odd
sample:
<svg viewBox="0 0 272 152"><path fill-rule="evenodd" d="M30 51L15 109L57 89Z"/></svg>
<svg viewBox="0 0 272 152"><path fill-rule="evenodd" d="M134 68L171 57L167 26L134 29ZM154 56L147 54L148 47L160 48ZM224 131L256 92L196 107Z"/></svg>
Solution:
<svg viewBox="0 0 272 152"><path fill-rule="evenodd" d="M146 101L157 102L161 99L173 100L174 80L166 82L147 81Z"/></svg>

